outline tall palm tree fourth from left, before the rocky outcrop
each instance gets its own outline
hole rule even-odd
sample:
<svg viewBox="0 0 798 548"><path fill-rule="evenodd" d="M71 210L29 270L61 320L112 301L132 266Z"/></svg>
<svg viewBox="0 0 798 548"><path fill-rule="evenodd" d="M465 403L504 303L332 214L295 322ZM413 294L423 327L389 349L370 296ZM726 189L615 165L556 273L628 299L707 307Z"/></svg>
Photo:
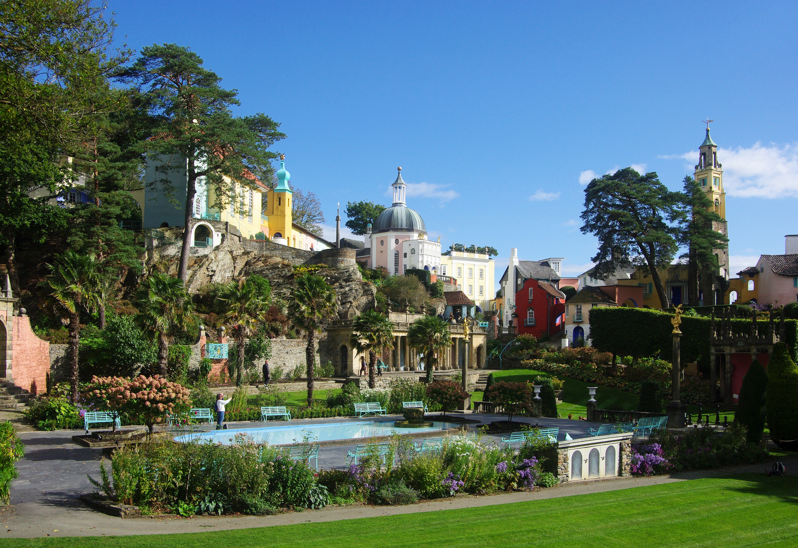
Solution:
<svg viewBox="0 0 798 548"><path fill-rule="evenodd" d="M313 365L316 333L322 330L322 321L332 316L338 303L335 290L324 278L316 274L302 274L295 280L296 290L288 304L293 323L307 333L305 361L307 365L307 404L313 405Z"/></svg>

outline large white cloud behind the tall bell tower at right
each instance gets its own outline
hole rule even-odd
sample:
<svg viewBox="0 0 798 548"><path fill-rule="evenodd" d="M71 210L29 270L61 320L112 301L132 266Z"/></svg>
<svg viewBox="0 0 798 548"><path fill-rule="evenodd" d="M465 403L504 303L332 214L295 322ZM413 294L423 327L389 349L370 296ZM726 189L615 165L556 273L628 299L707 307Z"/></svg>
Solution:
<svg viewBox="0 0 798 548"><path fill-rule="evenodd" d="M697 152L680 156L693 169ZM723 186L730 196L741 198L798 198L798 144L779 146L760 143L753 147L718 148L723 166Z"/></svg>

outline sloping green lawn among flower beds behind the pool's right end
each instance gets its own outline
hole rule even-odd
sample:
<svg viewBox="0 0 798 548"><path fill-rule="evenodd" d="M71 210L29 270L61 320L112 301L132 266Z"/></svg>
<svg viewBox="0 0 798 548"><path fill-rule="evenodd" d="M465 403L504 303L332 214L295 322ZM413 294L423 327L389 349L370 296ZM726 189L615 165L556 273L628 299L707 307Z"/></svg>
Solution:
<svg viewBox="0 0 798 548"><path fill-rule="evenodd" d="M538 375L548 375L543 371L536 371L535 369L506 369L504 371L496 371L493 373L494 380L507 380L509 382L526 382L532 380ZM557 377L556 375L554 377ZM557 405L557 412L563 418L568 416L568 413L573 415L576 419L579 416L585 416L587 413L587 387L593 384L583 382L582 380L571 379L569 377L558 377L563 380L563 403ZM472 401L482 401L483 392L474 392L471 399ZM634 411L638 408L640 396L632 392L624 392L616 388L609 388L606 386L599 386L596 390L596 400L599 402L599 408L620 408L626 411ZM702 412L706 413L707 408ZM688 405L687 412L692 413L693 420L698 414L697 405ZM721 412L721 421L724 416L729 417L729 422L734 420L734 412ZM710 422L714 423L714 416Z"/></svg>

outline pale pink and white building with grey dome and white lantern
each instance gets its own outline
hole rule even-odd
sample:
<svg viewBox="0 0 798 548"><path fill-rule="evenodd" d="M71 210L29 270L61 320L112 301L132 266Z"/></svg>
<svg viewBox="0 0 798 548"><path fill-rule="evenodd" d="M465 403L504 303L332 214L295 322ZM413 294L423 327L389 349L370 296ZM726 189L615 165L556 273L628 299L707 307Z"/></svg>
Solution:
<svg viewBox="0 0 798 548"><path fill-rule="evenodd" d="M440 270L440 242L427 238L424 219L407 207L407 185L401 178L401 168L398 171L397 179L391 185L393 205L377 217L373 226L365 229L369 266L385 266L391 274L405 274L409 268L437 274Z"/></svg>

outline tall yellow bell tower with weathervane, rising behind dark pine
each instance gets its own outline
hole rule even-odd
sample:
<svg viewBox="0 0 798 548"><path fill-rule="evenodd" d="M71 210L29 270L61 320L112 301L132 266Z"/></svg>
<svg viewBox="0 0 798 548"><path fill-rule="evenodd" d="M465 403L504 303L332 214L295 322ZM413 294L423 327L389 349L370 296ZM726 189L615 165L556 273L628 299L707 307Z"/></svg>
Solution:
<svg viewBox="0 0 798 548"><path fill-rule="evenodd" d="M721 216L722 221L713 221L712 229L722 235L729 236L729 227L726 222L726 192L723 189L723 164L717 161L717 144L709 136L709 123L714 120L704 120L706 136L698 148L698 164L693 171L693 178L709 198L711 205L709 211L714 211ZM713 250L717 258L717 271L701 272L699 274L699 302L698 306L722 305L724 294L729 285L729 246ZM690 303L693 304L692 302Z"/></svg>

